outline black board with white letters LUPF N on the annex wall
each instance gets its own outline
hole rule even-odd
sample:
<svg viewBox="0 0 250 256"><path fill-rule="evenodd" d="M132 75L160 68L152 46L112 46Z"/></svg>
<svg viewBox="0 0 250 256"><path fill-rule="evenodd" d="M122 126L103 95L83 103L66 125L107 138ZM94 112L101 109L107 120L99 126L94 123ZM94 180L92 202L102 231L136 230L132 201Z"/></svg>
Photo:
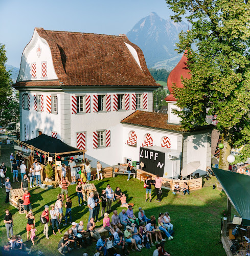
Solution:
<svg viewBox="0 0 250 256"><path fill-rule="evenodd" d="M145 164L142 169L146 172L163 177L165 153L140 147L140 162Z"/></svg>

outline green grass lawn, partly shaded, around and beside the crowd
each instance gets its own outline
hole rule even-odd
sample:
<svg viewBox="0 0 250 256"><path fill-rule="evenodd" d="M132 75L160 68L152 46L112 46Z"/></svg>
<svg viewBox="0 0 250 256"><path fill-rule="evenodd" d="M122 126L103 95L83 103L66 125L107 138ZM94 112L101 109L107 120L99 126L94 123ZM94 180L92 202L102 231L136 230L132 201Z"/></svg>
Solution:
<svg viewBox="0 0 250 256"><path fill-rule="evenodd" d="M8 173L10 177L12 174ZM220 212L226 208L226 196L217 189L212 189L212 184L216 183L216 178L212 180L205 180L202 189L191 191L190 196L173 195L171 191L163 189L164 199L161 203L154 201L155 197L152 193L152 203L145 202L145 188L143 183L137 179L130 179L126 181L126 176L118 176L116 178L104 179L103 181L94 181L99 193L101 189L106 188L109 183L113 190L116 186L120 186L122 191L126 193L127 201L134 203L134 213L138 216L138 208L141 206L145 210L146 216L155 215L158 217L160 212L169 211L171 222L174 225L174 239L166 241L165 249L171 253L171 256L195 256L195 255L225 255L224 249L221 245L216 245L219 242L220 234ZM12 179L11 179L12 180ZM20 179L19 179L20 180ZM12 183L13 188L19 188L20 183ZM78 198L75 192L76 185L69 187L69 195L73 201L72 221L79 223L80 220L84 222L86 227L88 219L88 208L78 206ZM5 204L5 189L0 190L0 239L1 246L6 244L6 229L3 218L5 216L5 209L8 208L14 218L14 234L20 234L22 239L26 241L26 224L25 215L19 215L17 209L10 204ZM44 209L44 205L51 205L55 203L57 194L60 193L60 188L43 190L41 188L30 189L31 202L33 212L36 218L36 229L38 230L38 239L35 241L35 246L32 247L34 255L38 250L43 251L44 255L60 255L57 251L57 245L61 238L57 232L57 236L52 235L52 228L49 228L50 240L44 238L42 231L43 225L40 224L40 215ZM113 209L122 208L117 204L112 205ZM65 209L64 209L65 213ZM111 214L110 214L111 217ZM97 223L101 226L101 222ZM61 226L61 232L64 233L69 226ZM28 242L28 247L32 244ZM131 252L130 255L152 255L155 247L151 249L143 249L142 252ZM74 251L74 255L82 255L86 252L84 249ZM87 253L93 255L95 253L95 246L88 246ZM73 253L72 253L73 254Z"/></svg>

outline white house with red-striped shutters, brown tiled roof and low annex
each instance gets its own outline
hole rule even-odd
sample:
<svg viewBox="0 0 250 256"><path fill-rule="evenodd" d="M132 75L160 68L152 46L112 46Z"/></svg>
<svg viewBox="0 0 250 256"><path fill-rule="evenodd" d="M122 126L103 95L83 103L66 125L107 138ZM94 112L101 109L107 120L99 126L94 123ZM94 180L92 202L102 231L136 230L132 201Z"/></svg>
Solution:
<svg viewBox="0 0 250 256"><path fill-rule="evenodd" d="M206 162L202 169L208 165L209 129L181 132L172 113L149 113L153 111L152 92L160 84L150 75L142 50L126 35L35 28L13 87L20 93L22 141L44 133L85 149L94 163L100 160L103 166L125 159L139 161L140 146L171 147L179 152L178 168L196 160L193 147L198 143ZM141 118L140 124L134 121ZM190 136L195 136L191 144L185 142Z"/></svg>

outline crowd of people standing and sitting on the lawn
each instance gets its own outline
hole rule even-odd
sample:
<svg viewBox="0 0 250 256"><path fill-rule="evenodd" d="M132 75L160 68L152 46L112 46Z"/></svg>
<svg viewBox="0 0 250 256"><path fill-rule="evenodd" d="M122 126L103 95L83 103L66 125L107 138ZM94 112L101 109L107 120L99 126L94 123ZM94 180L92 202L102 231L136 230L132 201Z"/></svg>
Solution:
<svg viewBox="0 0 250 256"><path fill-rule="evenodd" d="M12 159L10 157L10 160ZM17 175L14 171L16 169L21 170L21 189L24 190L24 195L22 200L24 201L24 208L27 219L27 243L32 242L35 244L36 238L36 228L35 228L35 216L32 212L32 204L30 200L29 193L29 183L30 188L34 187L34 179L36 178L36 186L40 185L40 171L41 166L37 160L32 164L29 173L27 175L27 168L25 162L19 161L17 165L16 159L12 160L13 169L13 181L18 182ZM76 174L74 173L74 168L76 167L75 162L70 159L69 166L71 168L72 182L66 179L66 173L63 170L63 176L60 181L61 193L58 194L57 200L54 204L45 205L44 210L40 216L40 223L44 226L43 234L46 239L49 237L49 226L51 223L53 235L56 236L57 232L62 236L58 243L58 251L64 255L74 249L86 248L86 246L92 245L93 241L96 241L96 250L104 254L104 256L129 254L132 251L141 251L144 247L150 248L155 246L153 239L155 238L156 249L154 251L155 255L170 255L164 249L164 241L166 239L173 239L173 225L169 217L168 212L160 212L157 215L157 220L155 216L150 218L146 217L145 211L142 207L139 207L138 216L135 216L133 211L133 204L126 202L126 195L122 192L121 188L118 186L113 190L110 184L107 184L106 188L102 190L101 195L98 191L95 193L90 193L87 199L87 203L83 200L83 189L82 183L84 183L84 177L77 181L76 184ZM85 168L89 168L90 164L88 161L85 162ZM97 168L99 168L98 179L103 179L101 175L101 164L97 163ZM65 169L65 168L64 168ZM6 173L7 168L4 163L2 163L2 171ZM1 172L1 168L0 168ZM90 181L90 176L87 173L87 178L85 182ZM3 180L2 180L3 182ZM6 188L6 203L9 201L9 192L12 189L9 177L4 180L4 185ZM83 221L79 223L72 222L72 200L68 195L68 187L70 185L76 184L76 194L78 196L78 205L87 205L89 211L89 218L84 228ZM162 200L162 179L158 175L155 180L152 177L148 177L144 182L144 187L146 188L146 200L151 202L152 185L155 187L156 201L161 202ZM189 194L189 191L187 191ZM65 195L65 198L64 198ZM64 202L65 200L65 202ZM100 213L101 204L101 215ZM120 213L115 209L111 211L112 205L115 207L123 207ZM65 215L64 210L65 208ZM110 214L112 216L110 217ZM98 231L96 228L96 222L100 222L99 218L102 219L102 228ZM19 249L24 253L30 253L31 250L26 247L26 244L22 242L21 238L14 236L13 234L13 218L8 209L6 209L6 216L4 218L4 223L6 226L7 238L9 240L8 244L5 246L4 250L9 251L12 249ZM60 226L71 225L66 232L62 233ZM105 233L107 236L101 236L100 233ZM158 254L157 254L158 253Z"/></svg>

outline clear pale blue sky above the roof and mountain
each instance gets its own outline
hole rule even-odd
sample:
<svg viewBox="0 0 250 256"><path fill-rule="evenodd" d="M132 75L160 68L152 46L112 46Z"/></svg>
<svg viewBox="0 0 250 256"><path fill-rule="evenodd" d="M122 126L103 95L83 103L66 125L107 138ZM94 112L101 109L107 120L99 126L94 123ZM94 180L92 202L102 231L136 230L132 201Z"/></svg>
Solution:
<svg viewBox="0 0 250 256"><path fill-rule="evenodd" d="M21 54L34 28L100 34L126 34L151 12L168 19L165 0L0 0L0 43L7 64L20 66Z"/></svg>

